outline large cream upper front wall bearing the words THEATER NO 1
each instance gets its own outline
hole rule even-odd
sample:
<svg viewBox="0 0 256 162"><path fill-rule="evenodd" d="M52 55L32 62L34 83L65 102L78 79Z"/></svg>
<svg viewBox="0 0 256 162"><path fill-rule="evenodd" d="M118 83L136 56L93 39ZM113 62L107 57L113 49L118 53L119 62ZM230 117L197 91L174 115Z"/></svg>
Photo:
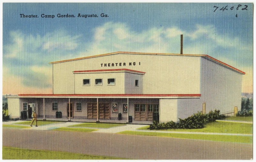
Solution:
<svg viewBox="0 0 256 162"><path fill-rule="evenodd" d="M200 58L159 54L114 54L56 63L53 64L53 92L74 94L72 71L125 68L146 72L143 75L144 94L199 94ZM129 65L130 62L132 65Z"/></svg>

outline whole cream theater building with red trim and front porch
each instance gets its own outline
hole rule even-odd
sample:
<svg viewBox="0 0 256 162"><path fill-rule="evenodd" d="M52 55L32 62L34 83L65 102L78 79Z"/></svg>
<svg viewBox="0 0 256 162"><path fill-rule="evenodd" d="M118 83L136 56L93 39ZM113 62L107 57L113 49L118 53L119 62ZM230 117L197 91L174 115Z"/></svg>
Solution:
<svg viewBox="0 0 256 162"><path fill-rule="evenodd" d="M155 112L160 122L177 122L198 111L241 110L245 72L208 55L114 52L49 64L52 94L8 97L11 118L29 118L35 109L47 120L128 122L130 116L153 123Z"/></svg>

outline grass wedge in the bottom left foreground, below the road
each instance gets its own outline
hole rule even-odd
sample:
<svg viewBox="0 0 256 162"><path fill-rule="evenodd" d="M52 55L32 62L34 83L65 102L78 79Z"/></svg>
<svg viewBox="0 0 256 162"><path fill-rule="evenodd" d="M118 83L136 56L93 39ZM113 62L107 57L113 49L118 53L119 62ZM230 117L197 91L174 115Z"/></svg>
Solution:
<svg viewBox="0 0 256 162"><path fill-rule="evenodd" d="M104 159L124 159L109 156L95 156L69 152L56 152L45 150L30 150L13 147L3 147L3 159L87 159L87 160L104 160Z"/></svg>

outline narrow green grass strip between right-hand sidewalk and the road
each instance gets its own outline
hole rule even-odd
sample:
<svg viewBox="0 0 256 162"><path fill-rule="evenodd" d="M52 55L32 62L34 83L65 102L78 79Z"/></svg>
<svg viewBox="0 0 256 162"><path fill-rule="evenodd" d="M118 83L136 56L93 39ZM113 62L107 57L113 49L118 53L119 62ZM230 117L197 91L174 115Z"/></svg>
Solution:
<svg viewBox="0 0 256 162"><path fill-rule="evenodd" d="M230 136L230 135L212 135L212 134L187 134L187 133L162 133L162 132L141 132L141 131L123 131L119 134L131 134L142 136L160 136L172 138L201 139L210 141L236 142L252 144L252 136Z"/></svg>

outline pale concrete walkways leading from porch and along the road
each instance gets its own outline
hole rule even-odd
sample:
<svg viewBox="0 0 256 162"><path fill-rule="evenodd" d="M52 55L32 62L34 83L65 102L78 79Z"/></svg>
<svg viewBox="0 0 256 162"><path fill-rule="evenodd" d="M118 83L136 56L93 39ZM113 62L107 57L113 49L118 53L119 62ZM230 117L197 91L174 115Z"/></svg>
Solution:
<svg viewBox="0 0 256 162"><path fill-rule="evenodd" d="M22 121L9 121L9 122L3 122L3 124L12 125L12 124L19 123L19 122L22 122ZM227 121L225 121L225 122L227 122ZM48 124L48 125L39 125L38 127L33 125L32 127L23 128L23 129L51 130L51 129L56 129L56 128L60 128L60 127L72 126L72 125L76 125L76 124L80 124L80 123L82 123L82 122L58 122L58 123L52 123L52 124ZM23 126L29 126L29 125L23 125ZM159 132L159 133L184 133L184 134L210 134L210 135L252 136L252 134L239 134L239 133L179 132L179 131L137 130L138 128L143 127L143 126L146 126L146 125L126 124L126 125L121 125L121 126L116 126L116 127L111 127L111 128L94 128L94 129L98 129L97 131L94 131L94 132L117 133L117 132L123 132L123 131L141 131L141 132ZM83 128L92 128L92 127L83 127Z"/></svg>

